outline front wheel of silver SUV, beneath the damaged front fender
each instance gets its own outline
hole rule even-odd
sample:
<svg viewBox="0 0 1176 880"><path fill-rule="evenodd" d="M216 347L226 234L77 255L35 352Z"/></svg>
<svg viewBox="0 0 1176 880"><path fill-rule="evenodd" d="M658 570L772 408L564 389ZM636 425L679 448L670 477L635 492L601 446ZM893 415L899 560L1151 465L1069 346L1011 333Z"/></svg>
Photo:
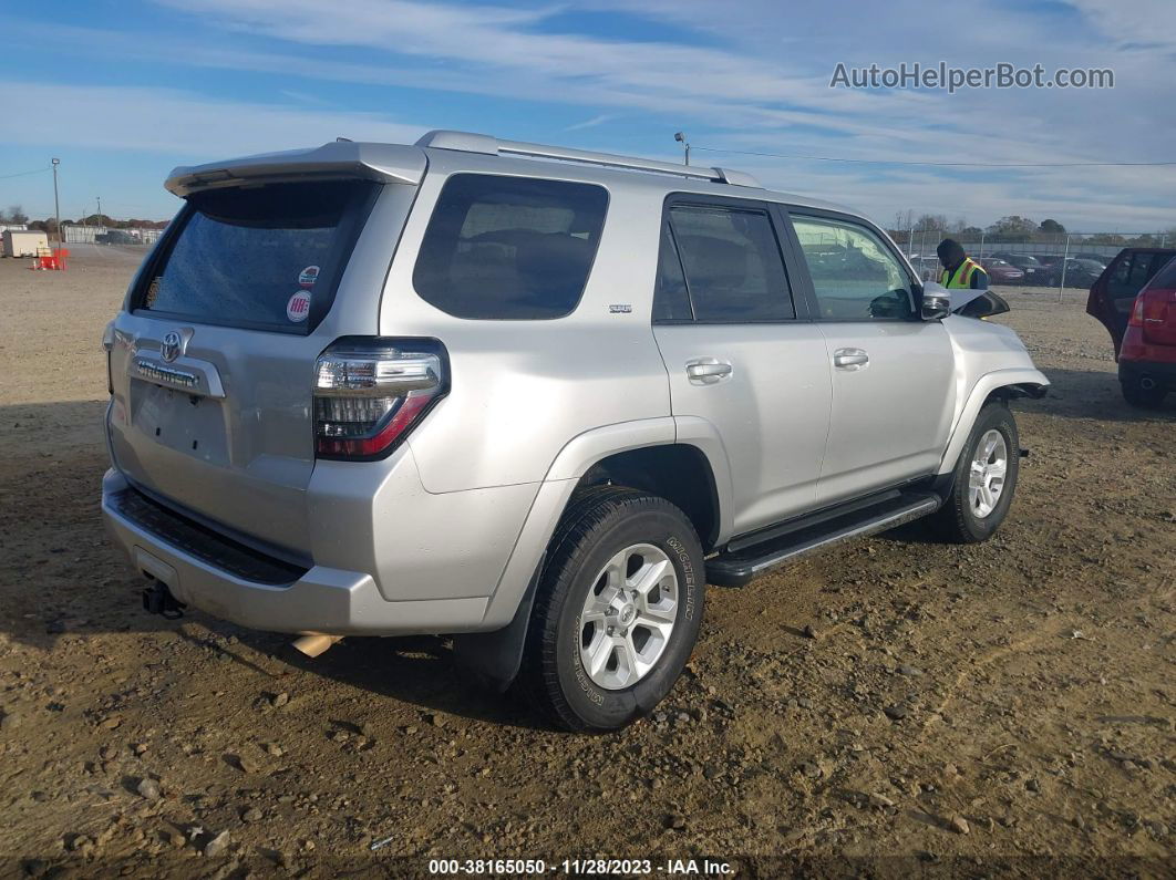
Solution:
<svg viewBox="0 0 1176 880"><path fill-rule="evenodd" d="M1013 504L1020 443L1008 407L998 401L985 404L960 454L950 493L930 518L944 540L976 544L993 537Z"/></svg>

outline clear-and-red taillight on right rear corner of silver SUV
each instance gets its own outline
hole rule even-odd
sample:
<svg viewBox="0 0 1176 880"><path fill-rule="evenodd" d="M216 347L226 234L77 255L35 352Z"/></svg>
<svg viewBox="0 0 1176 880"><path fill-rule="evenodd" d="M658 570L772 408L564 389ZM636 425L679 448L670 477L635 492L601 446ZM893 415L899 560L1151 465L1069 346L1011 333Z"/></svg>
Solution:
<svg viewBox="0 0 1176 880"><path fill-rule="evenodd" d="M314 367L315 455L383 458L448 390L448 357L436 340L339 340Z"/></svg>

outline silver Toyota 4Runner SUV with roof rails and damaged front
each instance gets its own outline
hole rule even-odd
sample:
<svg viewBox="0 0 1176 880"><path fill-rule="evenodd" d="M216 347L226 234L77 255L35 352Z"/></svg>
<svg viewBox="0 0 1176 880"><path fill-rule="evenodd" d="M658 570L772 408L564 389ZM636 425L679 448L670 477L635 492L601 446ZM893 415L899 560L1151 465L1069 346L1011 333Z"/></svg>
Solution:
<svg viewBox="0 0 1176 880"><path fill-rule="evenodd" d="M145 605L310 653L452 634L573 730L666 696L707 583L923 516L989 537L1007 402L1048 385L997 297L722 168L433 132L167 188L103 340Z"/></svg>

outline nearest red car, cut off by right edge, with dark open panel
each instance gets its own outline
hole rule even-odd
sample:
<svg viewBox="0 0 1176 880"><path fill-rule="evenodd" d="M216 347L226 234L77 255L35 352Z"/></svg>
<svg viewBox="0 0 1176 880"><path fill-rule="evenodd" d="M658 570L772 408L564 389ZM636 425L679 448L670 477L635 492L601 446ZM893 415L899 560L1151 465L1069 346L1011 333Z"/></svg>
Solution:
<svg viewBox="0 0 1176 880"><path fill-rule="evenodd" d="M1155 409L1176 390L1176 250L1125 248L1090 288L1087 311L1110 331L1123 397Z"/></svg>

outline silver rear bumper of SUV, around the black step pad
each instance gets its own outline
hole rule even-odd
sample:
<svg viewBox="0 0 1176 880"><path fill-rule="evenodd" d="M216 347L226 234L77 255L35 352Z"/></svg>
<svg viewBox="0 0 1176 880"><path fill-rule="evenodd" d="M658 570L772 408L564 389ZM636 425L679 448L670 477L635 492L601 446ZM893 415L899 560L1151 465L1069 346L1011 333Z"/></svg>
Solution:
<svg viewBox="0 0 1176 880"><path fill-rule="evenodd" d="M396 636L483 627L488 597L388 602L370 575L253 559L232 542L185 530L185 520L153 520L127 504L135 490L116 471L102 478L102 518L131 564L167 584L186 605L242 626L275 632ZM282 572L293 578L288 583Z"/></svg>

